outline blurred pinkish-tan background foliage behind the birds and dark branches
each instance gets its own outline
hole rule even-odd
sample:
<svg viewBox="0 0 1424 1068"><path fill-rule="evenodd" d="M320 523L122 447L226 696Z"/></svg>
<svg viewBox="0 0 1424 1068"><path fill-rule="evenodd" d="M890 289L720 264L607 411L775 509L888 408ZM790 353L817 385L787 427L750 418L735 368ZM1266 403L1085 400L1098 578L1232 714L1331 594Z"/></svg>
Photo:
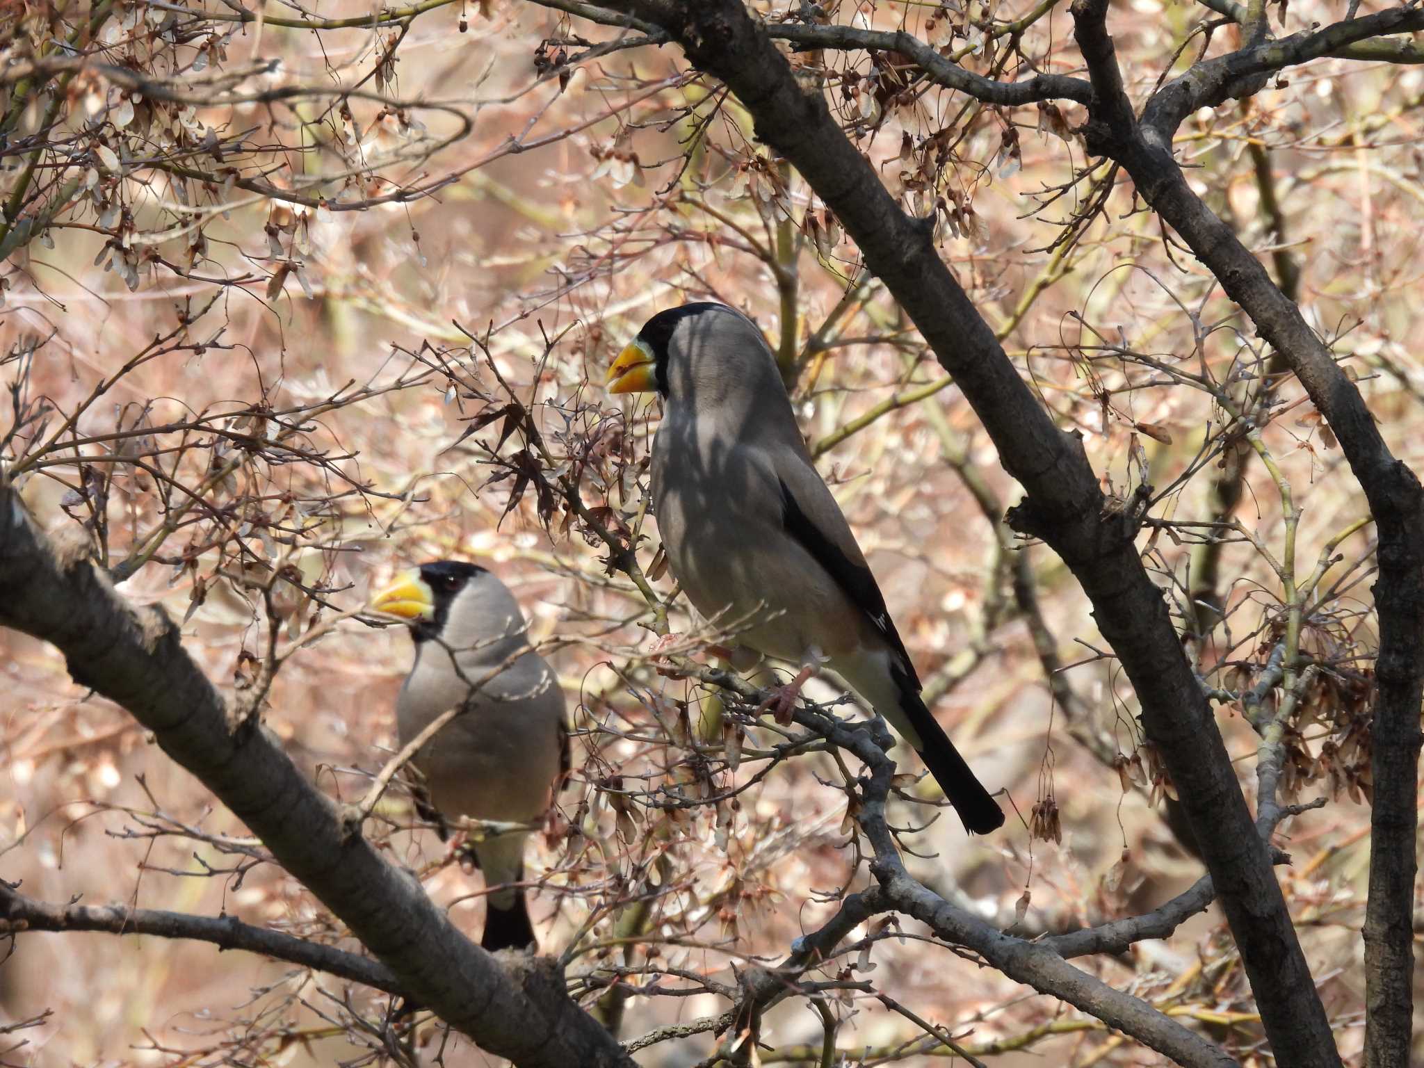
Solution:
<svg viewBox="0 0 1424 1068"><path fill-rule="evenodd" d="M1132 693L1057 558L1000 524L1017 491L953 383L725 90L674 47L572 19L580 7L0 13L13 402L0 426L24 500L130 598L182 619L219 684L271 682L265 722L347 800L390 756L410 658L403 634L357 617L369 587L440 557L497 570L577 706L575 780L530 871L541 941L570 956L588 1005L625 1004L625 1037L718 1012L733 968L776 960L866 880L832 759L768 769L766 729L723 723L656 671L655 652L716 635L681 602L666 615L681 641L651 634L644 591L609 564L609 538L634 544L658 594L674 588L646 515L656 409L604 396L602 372L655 310L721 299L765 329L931 706L1017 810L968 839L953 815L904 805L904 842L924 854L913 870L1021 934L1143 911L1190 884L1199 864ZM769 26L907 28L1005 78L1078 61L1054 0L755 7ZM1273 19L1290 30L1336 7ZM1129 91L1235 47L1218 10L1116 4ZM1279 874L1349 1054L1363 1018L1373 543L1329 429L1122 175L1085 158L1079 107L987 107L893 53L792 58L887 187L936 216L943 255L1044 404L1082 433L1104 486L1149 508L1142 550L1219 691L1247 789L1247 721L1286 706L1287 799L1329 803L1283 824L1294 863ZM1334 343L1410 464L1424 460L1421 93L1413 66L1327 60L1178 137L1193 188ZM1283 686L1293 598L1312 668ZM51 648L9 632L0 646L0 874L51 901L345 937ZM933 800L933 783L914 789ZM478 876L403 795L380 817L367 833L477 931ZM994 1064L1151 1061L901 928L870 931L873 957L827 978L859 973ZM1092 967L1265 1062L1215 910ZM380 1038L389 1001L148 937L31 936L0 964L7 1064L399 1059ZM847 1064L947 1055L863 993L832 1005ZM762 1062L817 1062L822 1022L785 1002ZM430 1020L413 1042L488 1061ZM669 1038L639 1057L693 1064L703 1047Z"/></svg>

